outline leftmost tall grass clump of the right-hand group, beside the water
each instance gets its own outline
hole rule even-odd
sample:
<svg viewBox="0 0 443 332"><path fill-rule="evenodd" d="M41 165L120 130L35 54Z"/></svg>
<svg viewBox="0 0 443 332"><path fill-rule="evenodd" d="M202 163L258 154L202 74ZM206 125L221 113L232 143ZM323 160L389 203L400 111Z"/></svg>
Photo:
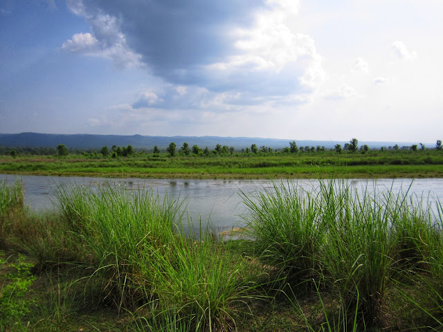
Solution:
<svg viewBox="0 0 443 332"><path fill-rule="evenodd" d="M250 214L247 228L264 264L276 280L299 284L317 279L325 223L315 192L296 183L273 183L252 196L242 193Z"/></svg>

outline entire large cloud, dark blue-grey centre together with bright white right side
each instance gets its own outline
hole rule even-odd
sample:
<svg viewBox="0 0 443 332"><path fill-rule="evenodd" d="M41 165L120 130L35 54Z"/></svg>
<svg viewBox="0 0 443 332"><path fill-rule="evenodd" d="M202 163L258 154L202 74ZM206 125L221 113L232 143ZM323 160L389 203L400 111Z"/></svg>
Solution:
<svg viewBox="0 0 443 332"><path fill-rule="evenodd" d="M68 4L88 21L91 33L74 35L62 48L108 57L121 66L143 63L174 86L156 91L155 101L149 95L139 96L134 107L172 107L174 100L195 105L190 90L206 101L219 93L217 98L226 104L309 100L325 78L314 40L287 26L298 15L299 1L69 0Z"/></svg>

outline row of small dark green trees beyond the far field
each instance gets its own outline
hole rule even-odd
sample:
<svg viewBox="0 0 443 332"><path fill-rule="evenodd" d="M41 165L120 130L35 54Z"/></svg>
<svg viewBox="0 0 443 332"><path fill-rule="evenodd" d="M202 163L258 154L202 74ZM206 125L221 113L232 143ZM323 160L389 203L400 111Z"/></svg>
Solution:
<svg viewBox="0 0 443 332"><path fill-rule="evenodd" d="M130 156L146 156L148 154L153 154L154 157L161 156L165 154L170 157L174 156L232 156L233 154L252 154L252 155L275 155L275 154L314 154L322 152L335 152L336 154L341 153L361 153L365 154L368 151L417 151L417 150L443 150L442 140L437 140L435 142L435 147L426 147L424 144L419 143L419 145L402 146L393 145L388 147L381 147L380 149L371 149L368 145L361 145L359 147L359 140L352 138L350 142L345 143L343 147L340 144L335 145L333 148L325 148L325 146L317 145L314 146L300 146L298 147L295 141L289 142L289 147L284 147L283 149L271 149L271 147L266 147L262 145L257 147L253 144L251 147L246 147L244 149L236 151L234 147L228 147L227 145L217 144L213 150L205 147L204 149L193 145L190 147L187 142L184 142L180 148L177 148L175 142L171 142L170 145L163 151L159 147L154 146L154 149L134 149L132 145L127 147L119 147L113 145L111 149L107 145L103 146L101 149L68 149L65 145L60 144L57 147L0 147L0 155L10 155L10 156L68 156L81 155L85 157L130 157Z"/></svg>

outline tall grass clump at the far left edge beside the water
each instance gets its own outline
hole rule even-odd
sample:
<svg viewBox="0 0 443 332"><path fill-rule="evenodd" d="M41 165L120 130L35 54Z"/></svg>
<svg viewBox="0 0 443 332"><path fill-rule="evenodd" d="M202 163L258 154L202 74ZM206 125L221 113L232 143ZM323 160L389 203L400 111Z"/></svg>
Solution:
<svg viewBox="0 0 443 332"><path fill-rule="evenodd" d="M6 248L12 225L24 214L24 190L21 180L0 182L0 249Z"/></svg>

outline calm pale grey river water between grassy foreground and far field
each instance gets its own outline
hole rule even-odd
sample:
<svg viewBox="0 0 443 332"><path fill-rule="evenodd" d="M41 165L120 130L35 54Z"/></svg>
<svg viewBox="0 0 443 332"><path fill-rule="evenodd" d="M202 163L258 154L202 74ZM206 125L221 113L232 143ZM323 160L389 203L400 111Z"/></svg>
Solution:
<svg viewBox="0 0 443 332"><path fill-rule="evenodd" d="M8 183L15 181L17 176L0 174L0 181ZM44 211L54 209L53 187L75 183L76 185L93 185L109 181L125 185L129 190L139 187L152 187L159 195L167 193L174 198L183 199L186 212L194 225L199 221L206 225L210 222L217 231L230 230L242 226L242 215L246 208L240 192L252 194L262 187L272 185L272 181L263 180L179 180L179 179L144 179L144 178L83 178L83 177L57 177L57 176L19 176L25 188L25 203L30 209ZM310 190L318 187L317 180L298 180L298 184ZM380 192L392 190L394 192L406 191L419 197L428 196L432 200L440 199L443 202L443 179L377 179L374 180L349 180L356 190L368 187L370 191L377 188ZM412 185L411 185L412 183Z"/></svg>

